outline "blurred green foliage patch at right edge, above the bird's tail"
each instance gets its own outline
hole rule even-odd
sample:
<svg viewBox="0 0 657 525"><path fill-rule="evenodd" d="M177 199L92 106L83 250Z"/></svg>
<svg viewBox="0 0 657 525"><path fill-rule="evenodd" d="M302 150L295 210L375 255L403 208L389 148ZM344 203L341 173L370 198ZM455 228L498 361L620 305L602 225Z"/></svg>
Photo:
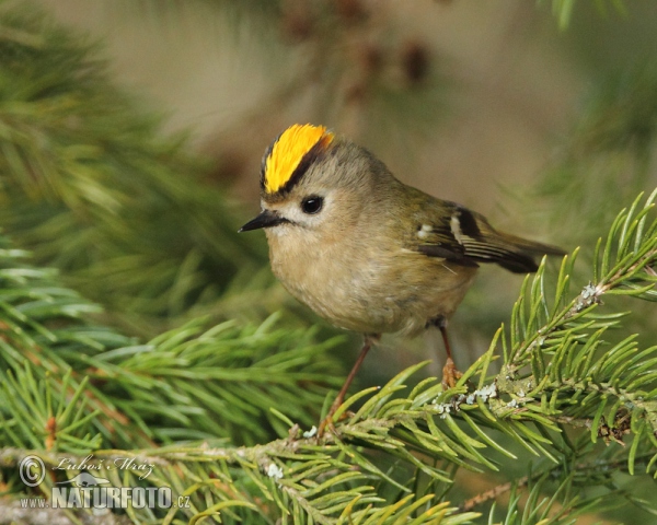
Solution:
<svg viewBox="0 0 657 525"><path fill-rule="evenodd" d="M541 176L535 195L566 242L587 247L615 215L610 195L627 201L650 187L657 138L657 68L643 59L600 79L581 117ZM587 258L592 255L584 254Z"/></svg>

